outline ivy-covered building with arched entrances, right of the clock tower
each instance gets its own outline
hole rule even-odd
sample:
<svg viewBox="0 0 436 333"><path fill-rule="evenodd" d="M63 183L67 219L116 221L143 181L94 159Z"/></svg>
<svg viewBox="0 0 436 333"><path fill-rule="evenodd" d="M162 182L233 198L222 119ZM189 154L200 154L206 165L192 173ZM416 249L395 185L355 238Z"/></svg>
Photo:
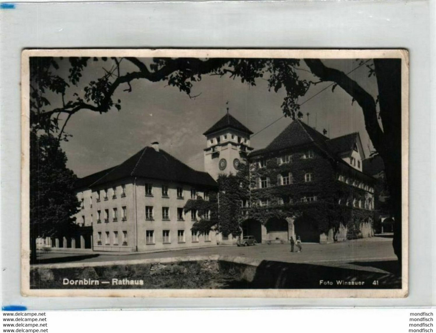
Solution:
<svg viewBox="0 0 436 333"><path fill-rule="evenodd" d="M248 157L244 234L263 243L371 237L376 180L361 172L363 159L358 134L330 140L293 121Z"/></svg>

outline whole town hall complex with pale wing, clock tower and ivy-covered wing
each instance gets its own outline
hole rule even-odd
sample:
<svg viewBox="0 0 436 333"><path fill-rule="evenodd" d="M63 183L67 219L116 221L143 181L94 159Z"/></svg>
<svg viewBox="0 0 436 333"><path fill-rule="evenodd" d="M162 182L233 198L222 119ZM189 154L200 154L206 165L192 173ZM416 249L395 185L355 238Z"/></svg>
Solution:
<svg viewBox="0 0 436 333"><path fill-rule="evenodd" d="M234 244L238 235L192 231L211 212L184 208L188 200L208 200L218 192L218 176L236 174L241 164L250 175L250 199L241 205L265 216L248 214L242 235L258 243L373 235L375 178L362 172L357 132L330 139L296 119L266 148L254 150L253 132L227 112L203 134L204 172L154 142L115 167L78 179L78 231L38 239L39 247L146 252Z"/></svg>

